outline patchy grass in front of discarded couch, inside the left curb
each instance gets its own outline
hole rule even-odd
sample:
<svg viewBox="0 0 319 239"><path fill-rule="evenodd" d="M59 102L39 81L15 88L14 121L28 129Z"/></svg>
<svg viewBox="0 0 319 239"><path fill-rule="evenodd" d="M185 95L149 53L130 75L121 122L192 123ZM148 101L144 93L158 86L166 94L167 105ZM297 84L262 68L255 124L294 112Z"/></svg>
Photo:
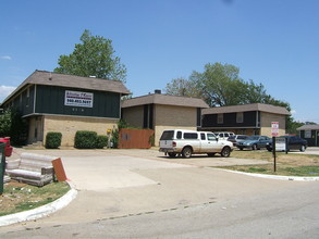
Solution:
<svg viewBox="0 0 319 239"><path fill-rule="evenodd" d="M14 181L5 184L0 196L0 216L45 205L61 198L69 190L66 183L52 183L44 187Z"/></svg>

